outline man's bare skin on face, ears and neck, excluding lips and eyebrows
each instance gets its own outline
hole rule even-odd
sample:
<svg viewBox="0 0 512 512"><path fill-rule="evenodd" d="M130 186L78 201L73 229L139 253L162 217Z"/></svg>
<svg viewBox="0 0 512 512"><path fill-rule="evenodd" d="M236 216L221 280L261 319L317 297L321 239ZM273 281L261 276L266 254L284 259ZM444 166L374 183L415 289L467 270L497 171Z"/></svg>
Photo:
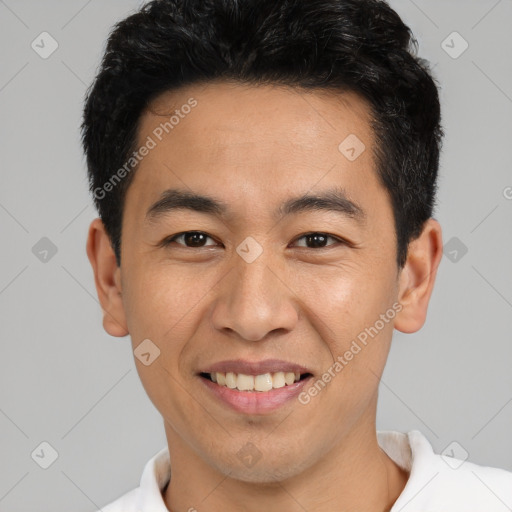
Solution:
<svg viewBox="0 0 512 512"><path fill-rule="evenodd" d="M389 510L408 475L377 443L379 379L393 328L411 333L425 322L441 227L429 219L397 268L391 203L358 95L189 86L157 98L141 118L139 142L168 119L155 113L190 97L197 106L141 161L127 191L121 266L99 219L87 242L105 330L130 334L134 349L149 338L161 352L149 366L135 361L164 419L172 472L165 504L173 512ZM349 134L366 146L354 161L338 150ZM290 197L333 186L366 212L364 223L328 211L272 216ZM169 188L221 199L230 216L182 209L148 223L146 211ZM158 246L191 230L212 237L206 247L183 239ZM348 243L308 247L308 232ZM236 252L248 236L263 249L252 263ZM226 359L279 358L316 380L398 303L394 319L307 405L241 414L196 375ZM237 457L249 442L261 454L250 468Z"/></svg>

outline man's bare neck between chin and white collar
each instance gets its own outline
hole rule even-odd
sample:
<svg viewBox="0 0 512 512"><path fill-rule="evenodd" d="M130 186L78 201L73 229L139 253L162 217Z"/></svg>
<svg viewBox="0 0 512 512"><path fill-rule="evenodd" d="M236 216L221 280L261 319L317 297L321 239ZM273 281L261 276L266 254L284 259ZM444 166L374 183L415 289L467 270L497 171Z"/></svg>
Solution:
<svg viewBox="0 0 512 512"><path fill-rule="evenodd" d="M408 478L378 445L374 424L347 434L306 471L264 483L230 478L198 457L167 424L166 434L172 469L163 497L171 512L388 512Z"/></svg>

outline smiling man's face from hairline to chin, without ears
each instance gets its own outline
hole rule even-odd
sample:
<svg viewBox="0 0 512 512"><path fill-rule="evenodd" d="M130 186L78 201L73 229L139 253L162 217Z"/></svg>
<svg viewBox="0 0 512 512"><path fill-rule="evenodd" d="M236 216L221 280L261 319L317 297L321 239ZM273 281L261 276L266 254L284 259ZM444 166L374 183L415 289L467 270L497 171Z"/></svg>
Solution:
<svg viewBox="0 0 512 512"><path fill-rule="evenodd" d="M136 364L170 446L223 474L292 476L375 429L410 280L369 122L354 93L229 83L166 93L141 118L137 147L155 144L127 191L105 325L158 348ZM275 389L230 389L254 382Z"/></svg>

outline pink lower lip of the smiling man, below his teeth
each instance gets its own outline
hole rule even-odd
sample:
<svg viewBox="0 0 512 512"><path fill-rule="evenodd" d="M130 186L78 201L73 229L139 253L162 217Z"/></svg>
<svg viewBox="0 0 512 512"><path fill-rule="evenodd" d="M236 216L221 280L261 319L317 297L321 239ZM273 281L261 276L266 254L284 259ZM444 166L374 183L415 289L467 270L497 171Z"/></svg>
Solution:
<svg viewBox="0 0 512 512"><path fill-rule="evenodd" d="M265 414L284 406L295 399L312 378L310 375L290 386L269 391L237 391L227 386L219 386L205 377L199 377L217 398L238 412L245 414Z"/></svg>

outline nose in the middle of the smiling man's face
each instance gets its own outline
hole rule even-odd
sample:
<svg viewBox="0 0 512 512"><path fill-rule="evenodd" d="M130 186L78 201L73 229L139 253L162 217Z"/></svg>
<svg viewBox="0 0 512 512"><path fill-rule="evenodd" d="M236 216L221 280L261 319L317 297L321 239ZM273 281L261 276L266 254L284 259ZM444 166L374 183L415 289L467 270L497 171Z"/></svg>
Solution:
<svg viewBox="0 0 512 512"><path fill-rule="evenodd" d="M293 291L285 273L265 257L252 263L234 256L235 268L219 283L212 321L224 333L259 341L269 333L292 331L298 321Z"/></svg>

